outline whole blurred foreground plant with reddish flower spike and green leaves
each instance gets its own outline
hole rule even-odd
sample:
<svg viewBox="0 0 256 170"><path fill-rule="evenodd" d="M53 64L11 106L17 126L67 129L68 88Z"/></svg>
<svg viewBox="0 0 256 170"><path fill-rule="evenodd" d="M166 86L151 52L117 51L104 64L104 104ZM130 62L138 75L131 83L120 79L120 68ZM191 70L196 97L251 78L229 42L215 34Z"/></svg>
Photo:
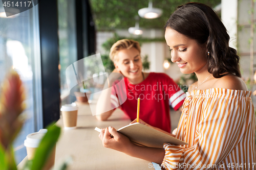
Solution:
<svg viewBox="0 0 256 170"><path fill-rule="evenodd" d="M17 169L12 143L24 124L25 90L17 72L12 70L3 83L0 96L0 170ZM47 162L60 135L60 128L51 125L35 152L23 169L40 170ZM57 169L66 169L68 161Z"/></svg>

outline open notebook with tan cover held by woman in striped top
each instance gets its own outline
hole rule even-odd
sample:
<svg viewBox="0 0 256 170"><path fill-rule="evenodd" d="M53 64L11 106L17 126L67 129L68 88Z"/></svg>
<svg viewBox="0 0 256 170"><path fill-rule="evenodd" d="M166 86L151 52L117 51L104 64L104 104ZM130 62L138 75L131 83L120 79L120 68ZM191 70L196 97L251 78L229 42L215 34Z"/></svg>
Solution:
<svg viewBox="0 0 256 170"><path fill-rule="evenodd" d="M140 123L134 123L124 126L117 131L127 136L131 141L144 145L146 147L163 148L163 144L165 142L175 145L188 144L173 136L167 135L163 132L160 132Z"/></svg>

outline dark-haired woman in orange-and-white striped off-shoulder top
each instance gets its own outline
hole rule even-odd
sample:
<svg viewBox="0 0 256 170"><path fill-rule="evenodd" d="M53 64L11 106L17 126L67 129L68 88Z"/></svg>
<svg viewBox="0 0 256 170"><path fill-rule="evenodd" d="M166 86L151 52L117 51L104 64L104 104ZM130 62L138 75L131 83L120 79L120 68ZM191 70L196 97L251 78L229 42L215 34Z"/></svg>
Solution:
<svg viewBox="0 0 256 170"><path fill-rule="evenodd" d="M109 127L99 135L104 147L166 169L254 169L251 91L240 78L239 57L229 47L229 36L218 15L200 3L179 6L166 23L165 39L181 72L195 72L198 77L188 89L178 128L173 132L189 144L164 143L163 149L140 147Z"/></svg>

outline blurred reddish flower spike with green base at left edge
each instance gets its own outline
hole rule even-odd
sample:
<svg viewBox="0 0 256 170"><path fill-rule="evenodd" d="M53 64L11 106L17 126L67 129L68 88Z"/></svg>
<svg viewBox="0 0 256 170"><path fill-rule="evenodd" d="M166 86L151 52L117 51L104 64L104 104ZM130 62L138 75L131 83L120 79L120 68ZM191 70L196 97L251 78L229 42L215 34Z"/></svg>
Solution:
<svg viewBox="0 0 256 170"><path fill-rule="evenodd" d="M0 96L0 169L16 169L12 142L23 126L24 87L17 72L7 76Z"/></svg>

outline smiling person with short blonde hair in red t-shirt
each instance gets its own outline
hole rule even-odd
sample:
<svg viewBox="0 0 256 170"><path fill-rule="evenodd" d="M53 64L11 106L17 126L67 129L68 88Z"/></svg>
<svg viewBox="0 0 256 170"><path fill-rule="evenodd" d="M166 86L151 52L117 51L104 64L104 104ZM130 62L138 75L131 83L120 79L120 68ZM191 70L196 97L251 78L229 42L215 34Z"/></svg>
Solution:
<svg viewBox="0 0 256 170"><path fill-rule="evenodd" d="M186 94L166 74L142 71L140 45L137 41L129 39L117 41L111 47L110 59L115 65L113 72L119 72L124 76L125 89L119 88L127 95L127 100L120 105L124 113L134 120L137 113L137 99L140 98L140 118L151 126L170 133L169 105L175 110L181 109ZM101 96L98 103L113 105L112 108L115 108L114 106L118 106L118 101L114 99L117 98L115 96L111 98L109 94ZM106 106L99 105L99 113L100 107ZM112 109L96 117L99 120L106 120L113 111Z"/></svg>

